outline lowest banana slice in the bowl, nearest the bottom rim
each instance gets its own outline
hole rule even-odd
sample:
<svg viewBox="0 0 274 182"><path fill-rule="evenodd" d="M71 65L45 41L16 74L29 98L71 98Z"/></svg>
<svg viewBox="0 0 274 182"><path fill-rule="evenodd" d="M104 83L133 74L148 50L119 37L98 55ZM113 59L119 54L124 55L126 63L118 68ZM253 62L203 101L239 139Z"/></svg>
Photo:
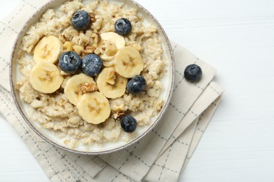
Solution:
<svg viewBox="0 0 274 182"><path fill-rule="evenodd" d="M79 116L87 123L98 125L110 117L110 104L100 92L83 94L77 104Z"/></svg>

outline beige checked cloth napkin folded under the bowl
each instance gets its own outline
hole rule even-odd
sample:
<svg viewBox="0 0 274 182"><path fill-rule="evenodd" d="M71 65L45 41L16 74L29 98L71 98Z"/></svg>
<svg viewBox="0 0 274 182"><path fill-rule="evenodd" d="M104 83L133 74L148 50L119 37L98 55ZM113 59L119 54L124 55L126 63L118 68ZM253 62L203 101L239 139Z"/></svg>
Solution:
<svg viewBox="0 0 274 182"><path fill-rule="evenodd" d="M215 69L173 43L176 59L174 96L163 120L136 144L100 156L76 155L47 144L22 120L10 94L8 64L11 48L24 23L43 0L22 0L0 22L0 113L30 148L51 181L177 181L221 99L223 89L211 82ZM202 80L189 83L183 77L188 64L198 64Z"/></svg>

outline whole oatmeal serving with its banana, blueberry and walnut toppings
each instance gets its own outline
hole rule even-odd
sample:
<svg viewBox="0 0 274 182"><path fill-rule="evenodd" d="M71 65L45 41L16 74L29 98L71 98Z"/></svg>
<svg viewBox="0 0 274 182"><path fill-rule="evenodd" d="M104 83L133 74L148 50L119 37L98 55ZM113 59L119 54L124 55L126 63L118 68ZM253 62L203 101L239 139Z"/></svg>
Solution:
<svg viewBox="0 0 274 182"><path fill-rule="evenodd" d="M28 116L70 148L129 141L161 111L162 43L138 10L67 1L22 38L16 83Z"/></svg>

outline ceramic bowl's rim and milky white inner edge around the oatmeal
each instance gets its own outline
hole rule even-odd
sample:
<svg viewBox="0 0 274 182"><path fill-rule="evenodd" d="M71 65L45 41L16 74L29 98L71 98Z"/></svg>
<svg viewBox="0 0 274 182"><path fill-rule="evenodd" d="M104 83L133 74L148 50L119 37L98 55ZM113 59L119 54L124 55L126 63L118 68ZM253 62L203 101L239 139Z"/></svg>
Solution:
<svg viewBox="0 0 274 182"><path fill-rule="evenodd" d="M25 122L30 126L30 128L39 135L42 139L47 141L49 144L52 144L53 146L57 146L58 148L62 148L65 151L70 151L73 153L78 154L88 154L88 155L100 155L105 153L112 153L114 151L119 151L122 148L126 148L127 146L130 146L131 144L135 143L136 141L140 140L141 138L145 137L146 134L148 134L154 127L159 123L159 121L162 119L162 116L164 115L164 112L167 111L167 107L169 106L169 102L171 100L171 95L173 92L174 87L174 56L173 52L171 50L171 43L169 42L169 38L167 37L167 34L164 32L164 29L159 24L159 22L153 17L151 13L148 12L143 6L136 3L135 1L131 0L113 0L117 2L123 2L126 3L126 5L131 6L133 8L138 9L138 13L141 13L145 20L152 23L157 27L159 31L159 36L162 39L162 47L164 50L164 59L167 59L167 66L166 70L167 73L165 74L164 78L160 80L164 88L162 90L162 98L164 99L164 106L162 107L162 110L159 112L159 114L152 118L152 124L148 125L146 127L140 127L137 130L137 136L130 141L117 141L117 142L108 142L104 146L91 146L89 149L86 149L83 146L79 146L77 148L69 148L63 144L63 141L58 139L53 132L44 129L39 125L39 123L34 122L29 119L27 116L27 112L25 109L25 103L23 103L20 100L18 90L15 89L15 83L16 80L20 78L20 72L18 71L18 64L15 62L17 55L18 55L18 48L20 47L20 44L22 43L22 37L25 35L25 32L31 25L33 25L39 18L41 18L41 15L48 9L48 8L58 8L61 4L63 4L66 0L51 0L48 1L44 6L39 8L34 15L30 17L30 19L25 23L24 27L21 29L20 33L18 34L18 37L15 41L12 55L11 55L11 64L10 64L10 82L11 82L11 90L13 94L14 102L17 106L18 111L20 112L22 118L25 120ZM111 0L109 0L111 1Z"/></svg>

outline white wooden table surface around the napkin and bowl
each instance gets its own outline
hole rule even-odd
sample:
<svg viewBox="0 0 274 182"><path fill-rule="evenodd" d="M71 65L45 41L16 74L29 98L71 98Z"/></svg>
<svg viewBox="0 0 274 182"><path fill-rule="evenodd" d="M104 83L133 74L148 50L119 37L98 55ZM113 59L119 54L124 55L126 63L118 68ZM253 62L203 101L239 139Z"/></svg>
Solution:
<svg viewBox="0 0 274 182"><path fill-rule="evenodd" d="M180 181L274 181L274 1L137 1L226 90ZM1 3L0 18L18 2ZM48 181L3 119L0 144L0 181Z"/></svg>

